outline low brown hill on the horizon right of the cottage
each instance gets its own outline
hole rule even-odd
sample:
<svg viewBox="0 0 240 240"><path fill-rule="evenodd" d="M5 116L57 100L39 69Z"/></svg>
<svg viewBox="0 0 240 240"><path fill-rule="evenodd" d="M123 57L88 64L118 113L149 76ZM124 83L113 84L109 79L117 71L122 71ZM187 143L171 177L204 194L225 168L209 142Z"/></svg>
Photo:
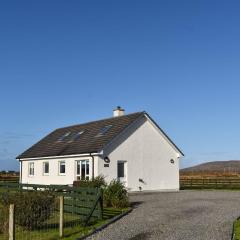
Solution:
<svg viewBox="0 0 240 240"><path fill-rule="evenodd" d="M180 170L180 175L239 175L240 160L202 163Z"/></svg>

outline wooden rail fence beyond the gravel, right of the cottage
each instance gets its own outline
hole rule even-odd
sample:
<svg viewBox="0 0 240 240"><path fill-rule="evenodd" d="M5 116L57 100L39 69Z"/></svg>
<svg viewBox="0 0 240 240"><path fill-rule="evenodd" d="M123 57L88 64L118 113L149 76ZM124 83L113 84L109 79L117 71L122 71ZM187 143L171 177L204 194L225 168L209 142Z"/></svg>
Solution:
<svg viewBox="0 0 240 240"><path fill-rule="evenodd" d="M240 178L181 178L181 189L240 189Z"/></svg>

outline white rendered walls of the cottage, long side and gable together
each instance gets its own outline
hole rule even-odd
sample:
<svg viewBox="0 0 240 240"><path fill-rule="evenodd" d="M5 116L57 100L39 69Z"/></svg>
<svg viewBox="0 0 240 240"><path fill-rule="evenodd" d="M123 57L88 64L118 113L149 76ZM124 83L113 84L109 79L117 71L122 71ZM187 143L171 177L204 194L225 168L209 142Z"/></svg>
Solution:
<svg viewBox="0 0 240 240"><path fill-rule="evenodd" d="M126 187L129 191L179 190L179 160L182 154L149 119L143 116L114 141L94 155L94 176L103 175L107 182L117 178L117 162L126 162ZM104 158L110 159L104 167ZM72 155L21 159L22 183L73 184L76 180L76 161L89 160L92 177L92 157ZM59 174L59 161L66 162L66 174ZM174 161L174 163L171 162ZM49 175L43 174L43 162L49 162ZM29 176L29 162L34 162L34 176ZM140 182L142 179L143 182Z"/></svg>

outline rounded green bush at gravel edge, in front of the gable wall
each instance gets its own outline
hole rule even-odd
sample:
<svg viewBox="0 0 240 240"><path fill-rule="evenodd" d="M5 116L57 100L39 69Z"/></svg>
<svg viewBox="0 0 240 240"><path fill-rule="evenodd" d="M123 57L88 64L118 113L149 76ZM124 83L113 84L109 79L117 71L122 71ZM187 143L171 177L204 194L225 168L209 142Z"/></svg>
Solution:
<svg viewBox="0 0 240 240"><path fill-rule="evenodd" d="M127 190L125 186L117 180L111 181L104 189L103 199L106 207L124 208L129 206Z"/></svg>

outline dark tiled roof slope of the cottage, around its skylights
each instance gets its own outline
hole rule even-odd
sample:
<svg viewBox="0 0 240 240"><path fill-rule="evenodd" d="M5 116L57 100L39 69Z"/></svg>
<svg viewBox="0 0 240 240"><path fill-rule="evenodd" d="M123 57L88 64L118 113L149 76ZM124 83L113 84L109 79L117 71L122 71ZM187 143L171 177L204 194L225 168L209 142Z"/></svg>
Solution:
<svg viewBox="0 0 240 240"><path fill-rule="evenodd" d="M108 142L144 114L145 112L137 112L121 117L113 117L56 129L20 154L17 159L74 155L101 151ZM97 136L104 127L110 125L112 126L105 134ZM73 136L81 131L84 132L79 138L72 141ZM70 134L66 138L62 141L59 140L64 134L68 133Z"/></svg>

